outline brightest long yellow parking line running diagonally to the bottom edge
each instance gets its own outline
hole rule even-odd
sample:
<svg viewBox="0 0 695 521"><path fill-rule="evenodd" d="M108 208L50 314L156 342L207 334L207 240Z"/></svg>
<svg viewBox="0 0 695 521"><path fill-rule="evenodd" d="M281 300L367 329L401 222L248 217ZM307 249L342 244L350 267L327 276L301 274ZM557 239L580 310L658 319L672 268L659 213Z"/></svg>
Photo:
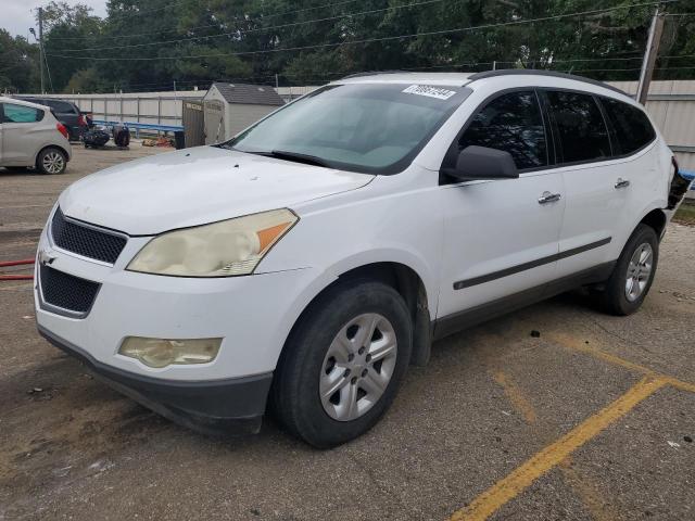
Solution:
<svg viewBox="0 0 695 521"><path fill-rule="evenodd" d="M644 377L614 403L577 425L510 474L479 495L468 507L452 514L450 521L484 520L518 496L545 472L557 466L573 450L632 410L639 403L670 383L666 378Z"/></svg>

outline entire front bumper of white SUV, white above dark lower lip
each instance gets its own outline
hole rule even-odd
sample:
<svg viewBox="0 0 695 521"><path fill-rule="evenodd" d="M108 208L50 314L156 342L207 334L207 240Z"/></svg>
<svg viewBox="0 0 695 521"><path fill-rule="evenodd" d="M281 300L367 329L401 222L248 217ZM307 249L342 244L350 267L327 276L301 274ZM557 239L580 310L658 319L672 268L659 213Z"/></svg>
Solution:
<svg viewBox="0 0 695 521"><path fill-rule="evenodd" d="M130 237L110 265L62 250L43 230L34 289L39 332L123 394L178 423L211 433L257 431L287 335L323 281L314 268L215 279L125 270L148 240ZM47 305L46 266L98 284L85 313ZM118 354L127 336L223 342L211 363L152 368Z"/></svg>

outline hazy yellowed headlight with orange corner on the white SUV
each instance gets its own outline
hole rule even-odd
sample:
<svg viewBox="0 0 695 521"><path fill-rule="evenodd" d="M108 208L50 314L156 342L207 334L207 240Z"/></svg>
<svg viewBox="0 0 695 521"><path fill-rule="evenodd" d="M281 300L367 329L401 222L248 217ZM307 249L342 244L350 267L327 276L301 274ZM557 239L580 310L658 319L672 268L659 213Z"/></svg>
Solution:
<svg viewBox="0 0 695 521"><path fill-rule="evenodd" d="M249 275L298 219L285 208L169 231L148 242L126 269L179 277Z"/></svg>

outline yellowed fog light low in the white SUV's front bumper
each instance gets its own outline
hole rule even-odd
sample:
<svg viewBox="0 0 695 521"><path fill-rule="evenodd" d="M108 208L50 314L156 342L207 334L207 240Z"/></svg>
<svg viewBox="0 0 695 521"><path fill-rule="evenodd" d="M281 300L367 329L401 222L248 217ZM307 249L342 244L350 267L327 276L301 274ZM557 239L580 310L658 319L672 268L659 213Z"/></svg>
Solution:
<svg viewBox="0 0 695 521"><path fill-rule="evenodd" d="M118 354L136 358L149 367L173 364L207 364L219 352L222 339L165 340L127 336Z"/></svg>

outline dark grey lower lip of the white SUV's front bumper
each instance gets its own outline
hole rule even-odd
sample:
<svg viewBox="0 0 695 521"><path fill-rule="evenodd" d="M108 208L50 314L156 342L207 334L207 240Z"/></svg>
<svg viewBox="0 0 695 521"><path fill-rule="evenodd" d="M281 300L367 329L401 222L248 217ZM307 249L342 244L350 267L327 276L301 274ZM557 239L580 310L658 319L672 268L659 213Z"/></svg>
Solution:
<svg viewBox="0 0 695 521"><path fill-rule="evenodd" d="M189 429L204 434L253 434L261 429L273 373L203 382L135 374L96 360L84 350L52 334L39 333L83 361L119 393Z"/></svg>

